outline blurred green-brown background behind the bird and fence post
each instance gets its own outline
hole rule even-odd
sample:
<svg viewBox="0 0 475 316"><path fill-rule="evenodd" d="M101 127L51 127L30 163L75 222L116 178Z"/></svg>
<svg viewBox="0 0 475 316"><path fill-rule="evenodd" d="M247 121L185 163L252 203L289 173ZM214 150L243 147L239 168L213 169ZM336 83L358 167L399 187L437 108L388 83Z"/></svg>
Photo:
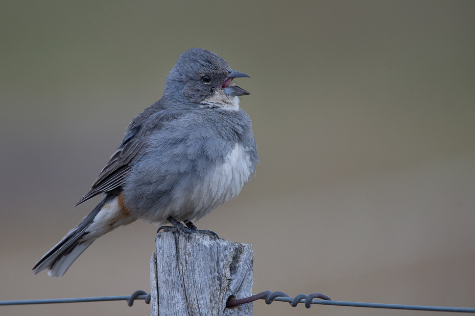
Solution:
<svg viewBox="0 0 475 316"><path fill-rule="evenodd" d="M237 81L251 92L257 175L197 225L253 245L253 293L475 307L475 2L0 6L0 300L150 291L156 227L144 222L105 235L61 279L31 267L99 203L72 208L181 52L201 47L251 76ZM254 315L317 313L423 312L254 303Z"/></svg>

